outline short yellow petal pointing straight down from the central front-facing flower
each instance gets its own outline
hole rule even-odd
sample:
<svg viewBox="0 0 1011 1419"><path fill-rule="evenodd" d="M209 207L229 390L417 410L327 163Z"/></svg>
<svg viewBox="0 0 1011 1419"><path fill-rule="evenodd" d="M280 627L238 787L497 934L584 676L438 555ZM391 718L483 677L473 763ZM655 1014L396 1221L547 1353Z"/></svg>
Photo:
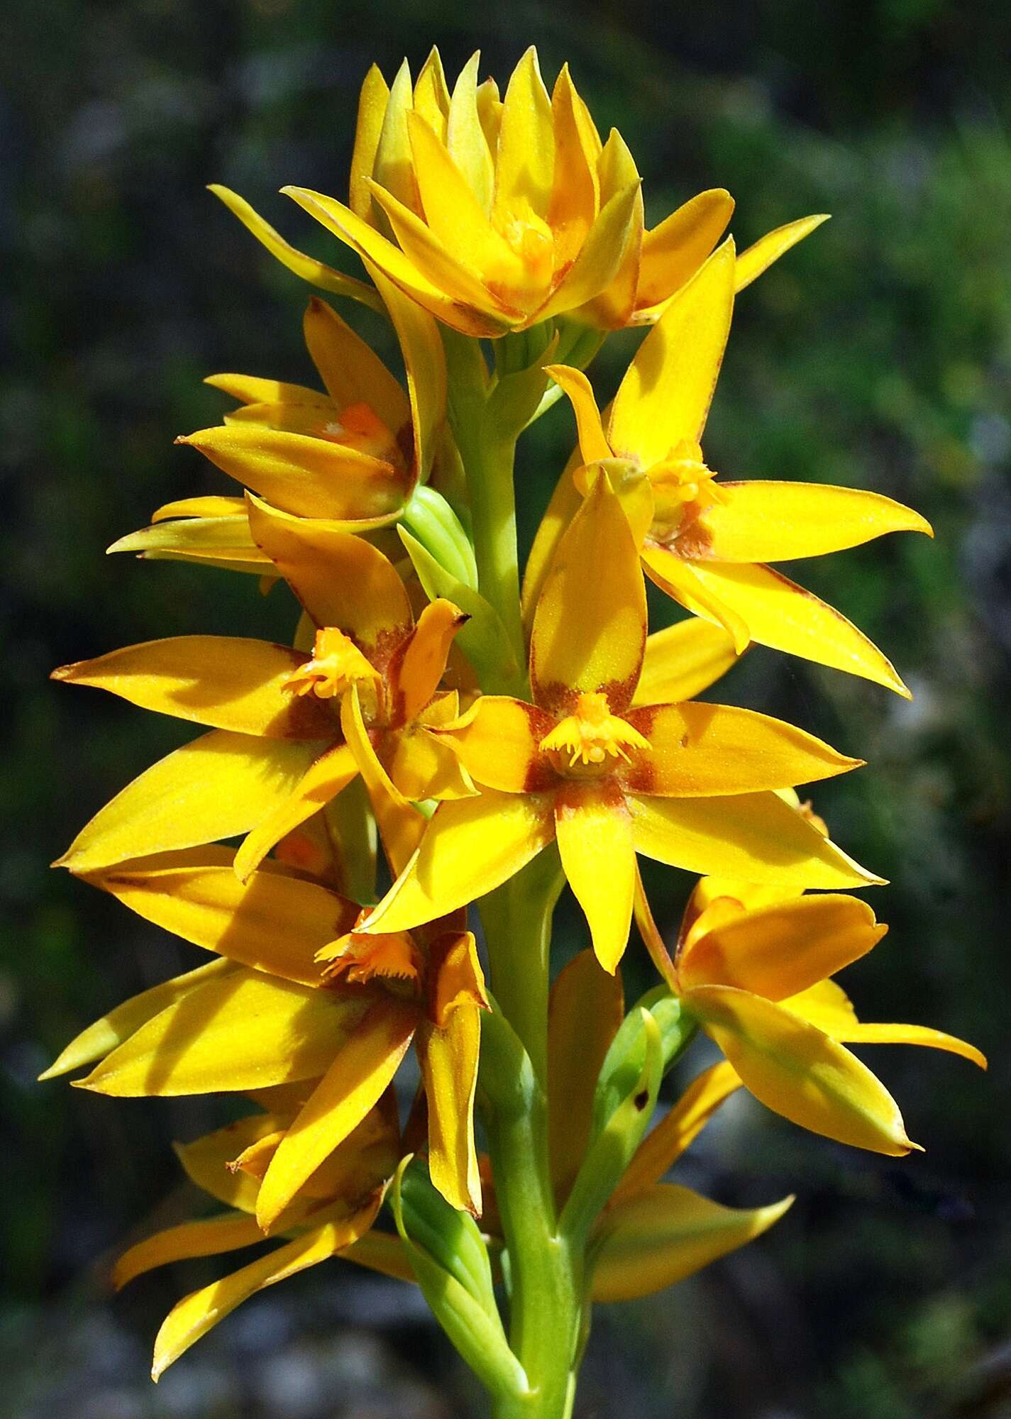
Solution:
<svg viewBox="0 0 1011 1419"><path fill-rule="evenodd" d="M616 785L567 785L555 797L555 836L596 959L613 975L629 939L636 874L632 816Z"/></svg>

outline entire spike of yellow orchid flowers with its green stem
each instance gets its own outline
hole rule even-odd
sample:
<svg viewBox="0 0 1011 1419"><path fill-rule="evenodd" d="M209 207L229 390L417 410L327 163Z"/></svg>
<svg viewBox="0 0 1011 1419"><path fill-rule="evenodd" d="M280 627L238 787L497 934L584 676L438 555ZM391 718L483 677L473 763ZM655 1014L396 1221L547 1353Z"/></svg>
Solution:
<svg viewBox="0 0 1011 1419"><path fill-rule="evenodd" d="M902 1155L916 1145L897 1105L845 1046L983 1059L936 1030L860 1023L829 979L885 934L843 894L879 878L795 788L860 761L693 698L751 641L907 694L855 626L765 563L927 524L873 492L724 481L700 447L736 294L824 219L737 255L720 243L733 201L714 190L646 230L632 156L616 132L601 140L567 70L548 95L530 51L503 99L477 72L476 55L450 92L435 54L413 84L406 64L392 87L373 70L348 204L285 189L368 281L214 189L300 277L389 318L406 389L312 297L324 389L216 375L239 407L180 440L243 494L168 504L115 545L287 582L301 619L293 646L183 636L55 673L204 727L60 863L212 959L112 1010L44 1077L92 1066L80 1083L104 1094L256 1105L179 1148L227 1210L118 1264L122 1284L281 1242L176 1305L155 1375L254 1291L339 1254L417 1280L504 1396L497 1412L555 1415L592 1298L667 1286L788 1206L734 1210L660 1181L736 1088ZM601 413L582 370L636 325L647 333ZM513 451L561 394L576 446L521 580ZM649 634L645 578L692 614ZM673 951L638 854L701 877ZM548 999L564 878L592 951ZM625 1016L633 917L660 981ZM726 1060L647 1132L697 1029ZM375 1225L385 1199L396 1230ZM562 1263L545 1260L559 1239L576 1320L554 1327L552 1392L530 1317L545 1286L568 1315ZM501 1277L527 1320L515 1344Z"/></svg>

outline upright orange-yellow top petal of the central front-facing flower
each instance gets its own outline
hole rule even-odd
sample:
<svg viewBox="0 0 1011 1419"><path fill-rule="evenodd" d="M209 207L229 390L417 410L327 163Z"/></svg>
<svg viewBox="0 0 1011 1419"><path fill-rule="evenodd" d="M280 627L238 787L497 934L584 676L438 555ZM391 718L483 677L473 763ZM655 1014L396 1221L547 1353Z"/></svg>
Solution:
<svg viewBox="0 0 1011 1419"><path fill-rule="evenodd" d="M574 692L630 702L646 644L639 553L609 481L598 475L558 543L537 603L530 646L534 700L571 712Z"/></svg>

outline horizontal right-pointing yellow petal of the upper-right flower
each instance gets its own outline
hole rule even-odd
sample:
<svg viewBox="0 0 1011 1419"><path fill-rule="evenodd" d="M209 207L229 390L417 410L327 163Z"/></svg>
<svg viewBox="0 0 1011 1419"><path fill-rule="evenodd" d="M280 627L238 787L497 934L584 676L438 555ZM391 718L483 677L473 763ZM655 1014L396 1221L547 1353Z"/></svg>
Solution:
<svg viewBox="0 0 1011 1419"><path fill-rule="evenodd" d="M818 482L720 482L720 502L677 538L689 558L782 562L860 546L885 532L926 532L919 512L880 492Z"/></svg>

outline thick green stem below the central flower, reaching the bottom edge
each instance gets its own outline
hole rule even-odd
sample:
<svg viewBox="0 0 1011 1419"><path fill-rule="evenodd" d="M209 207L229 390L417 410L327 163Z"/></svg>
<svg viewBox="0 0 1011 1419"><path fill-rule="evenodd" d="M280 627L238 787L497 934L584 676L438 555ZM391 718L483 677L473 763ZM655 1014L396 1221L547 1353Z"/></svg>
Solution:
<svg viewBox="0 0 1011 1419"><path fill-rule="evenodd" d="M508 1254L510 1345L530 1386L498 1398L496 1419L568 1419L586 1330L584 1249L559 1232L548 1149L548 946L561 881L548 850L481 907L504 1017L481 1039L488 1154Z"/></svg>

